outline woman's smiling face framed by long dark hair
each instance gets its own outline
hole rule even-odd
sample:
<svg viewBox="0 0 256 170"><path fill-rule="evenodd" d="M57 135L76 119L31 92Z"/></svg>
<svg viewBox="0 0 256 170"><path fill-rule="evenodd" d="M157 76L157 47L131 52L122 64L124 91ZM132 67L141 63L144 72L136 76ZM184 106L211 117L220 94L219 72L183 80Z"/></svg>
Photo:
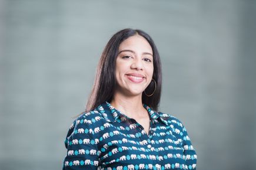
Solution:
<svg viewBox="0 0 256 170"><path fill-rule="evenodd" d="M115 93L138 96L151 82L154 72L153 52L148 41L139 35L124 40L118 49Z"/></svg>

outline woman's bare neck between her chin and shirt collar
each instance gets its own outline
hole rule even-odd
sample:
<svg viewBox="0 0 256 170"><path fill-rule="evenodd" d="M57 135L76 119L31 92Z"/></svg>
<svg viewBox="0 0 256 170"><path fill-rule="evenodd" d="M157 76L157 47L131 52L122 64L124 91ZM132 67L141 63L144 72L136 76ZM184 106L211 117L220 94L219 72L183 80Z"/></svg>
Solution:
<svg viewBox="0 0 256 170"><path fill-rule="evenodd" d="M131 118L145 115L142 94L139 96L123 96L122 94L116 93L111 101L111 105Z"/></svg>

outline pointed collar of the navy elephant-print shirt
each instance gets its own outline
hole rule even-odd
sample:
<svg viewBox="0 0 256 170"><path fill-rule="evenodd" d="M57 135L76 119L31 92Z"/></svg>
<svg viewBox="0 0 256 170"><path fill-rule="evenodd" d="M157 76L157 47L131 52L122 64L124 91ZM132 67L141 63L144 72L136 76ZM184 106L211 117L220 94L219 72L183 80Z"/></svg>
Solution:
<svg viewBox="0 0 256 170"><path fill-rule="evenodd" d="M143 104L144 108L148 111L149 117L153 121L161 121L165 125L169 125L171 121L169 121L169 115L163 114L161 112L157 112L152 110L151 107L147 106L147 104ZM101 113L104 118L110 123L114 123L116 121L121 122L122 117L129 118L127 115L121 113L121 111L117 110L117 108L114 108L111 106L110 103L105 101L105 103L102 103L100 106L98 106L97 110L99 113Z"/></svg>

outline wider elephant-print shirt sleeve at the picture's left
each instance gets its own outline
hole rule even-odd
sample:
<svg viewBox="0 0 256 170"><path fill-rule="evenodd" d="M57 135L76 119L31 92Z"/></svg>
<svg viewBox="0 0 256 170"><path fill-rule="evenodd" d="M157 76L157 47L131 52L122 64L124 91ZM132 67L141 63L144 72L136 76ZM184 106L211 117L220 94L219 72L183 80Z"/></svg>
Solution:
<svg viewBox="0 0 256 170"><path fill-rule="evenodd" d="M95 144L92 129L92 125L82 119L74 121L71 125L65 140L67 155L63 170L98 168L100 151Z"/></svg>

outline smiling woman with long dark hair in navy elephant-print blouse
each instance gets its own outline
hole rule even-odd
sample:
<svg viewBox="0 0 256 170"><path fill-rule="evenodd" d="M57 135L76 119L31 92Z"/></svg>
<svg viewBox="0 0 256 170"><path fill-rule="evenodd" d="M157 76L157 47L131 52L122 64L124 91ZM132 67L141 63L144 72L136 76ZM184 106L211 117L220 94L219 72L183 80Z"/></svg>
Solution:
<svg viewBox="0 0 256 170"><path fill-rule="evenodd" d="M157 111L161 81L151 37L134 29L115 33L99 61L87 110L69 128L63 169L195 169L185 127Z"/></svg>

